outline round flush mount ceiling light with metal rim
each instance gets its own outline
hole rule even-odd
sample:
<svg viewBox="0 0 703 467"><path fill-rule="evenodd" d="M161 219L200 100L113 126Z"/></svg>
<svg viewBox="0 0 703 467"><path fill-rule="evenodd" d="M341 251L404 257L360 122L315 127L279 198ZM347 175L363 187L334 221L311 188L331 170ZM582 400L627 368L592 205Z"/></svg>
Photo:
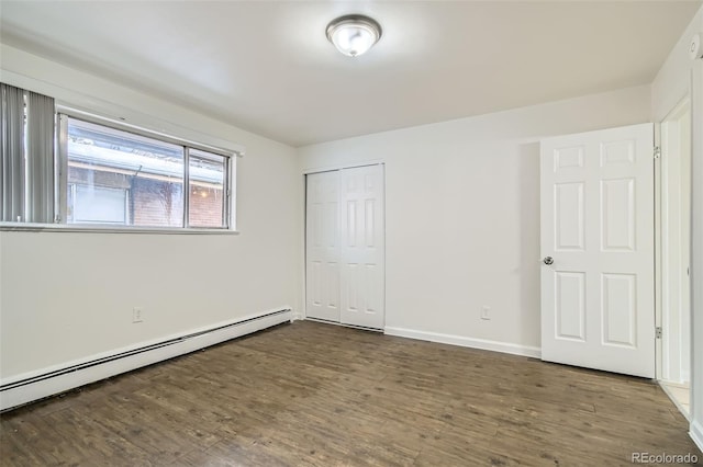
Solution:
<svg viewBox="0 0 703 467"><path fill-rule="evenodd" d="M356 57L381 38L381 25L368 16L347 14L327 25L327 38L344 55Z"/></svg>

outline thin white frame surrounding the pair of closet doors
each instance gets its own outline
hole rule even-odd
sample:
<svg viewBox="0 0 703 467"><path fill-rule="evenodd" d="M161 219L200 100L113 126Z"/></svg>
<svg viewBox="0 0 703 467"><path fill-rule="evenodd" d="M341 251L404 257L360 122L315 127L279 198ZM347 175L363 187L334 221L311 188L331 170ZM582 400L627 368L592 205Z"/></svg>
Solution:
<svg viewBox="0 0 703 467"><path fill-rule="evenodd" d="M326 321L326 320L317 320L316 318L310 318L308 317L308 262L306 262L306 258L308 258L308 175L314 174L314 173L325 173L325 172L334 172L337 170L344 170L344 169L356 169L359 167L371 167L371 166L382 166L383 170L382 170L382 181L383 181L383 329L371 329L371 328L364 328L364 327L358 327L358 326L354 326L354 324L345 324L342 322L335 322L335 321ZM303 258L302 258L302 273L303 273L303 280L302 280L302 310L300 314L297 314L297 318L298 319L305 319L305 320L311 320L311 321L320 321L320 322L324 322L326 324L336 324L336 326L343 326L346 328L354 328L354 329L362 329L365 331L375 331L375 332L386 332L386 316L387 316L387 294L386 294L386 271L388 270L388 263L387 263L387 248L386 248L386 200L387 200L387 190L386 190L386 161L381 160L381 159L371 159L368 161L364 161L364 162L349 162L349 163L339 163L339 164L332 164L332 166L322 166L322 167L313 167L313 168L306 168L302 170L302 189L303 189L303 202L302 202L302 219L303 219L303 248L302 248L302 252L303 252Z"/></svg>

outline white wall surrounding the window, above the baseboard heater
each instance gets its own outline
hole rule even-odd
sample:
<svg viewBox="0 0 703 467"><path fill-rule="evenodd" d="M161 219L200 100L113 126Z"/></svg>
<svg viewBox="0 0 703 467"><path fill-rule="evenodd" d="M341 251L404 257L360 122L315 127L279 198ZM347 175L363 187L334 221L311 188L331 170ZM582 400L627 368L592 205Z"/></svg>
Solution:
<svg viewBox="0 0 703 467"><path fill-rule="evenodd" d="M299 309L293 148L2 46L0 80L217 146L238 160L238 236L0 232L3 380L281 308ZM132 308L144 309L132 323Z"/></svg>

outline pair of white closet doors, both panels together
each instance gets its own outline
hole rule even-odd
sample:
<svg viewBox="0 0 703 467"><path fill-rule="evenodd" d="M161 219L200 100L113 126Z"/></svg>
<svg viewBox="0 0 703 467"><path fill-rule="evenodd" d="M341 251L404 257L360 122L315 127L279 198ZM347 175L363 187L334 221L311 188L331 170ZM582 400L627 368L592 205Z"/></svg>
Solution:
<svg viewBox="0 0 703 467"><path fill-rule="evenodd" d="M309 317L383 328L383 166L308 175Z"/></svg>

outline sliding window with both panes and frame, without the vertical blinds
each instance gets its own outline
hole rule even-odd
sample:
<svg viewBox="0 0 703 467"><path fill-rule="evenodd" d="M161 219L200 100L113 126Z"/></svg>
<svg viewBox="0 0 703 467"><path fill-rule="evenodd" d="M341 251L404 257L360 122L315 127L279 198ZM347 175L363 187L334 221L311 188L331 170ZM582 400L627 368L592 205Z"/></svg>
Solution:
<svg viewBox="0 0 703 467"><path fill-rule="evenodd" d="M228 228L230 156L115 126L59 114L67 224Z"/></svg>

